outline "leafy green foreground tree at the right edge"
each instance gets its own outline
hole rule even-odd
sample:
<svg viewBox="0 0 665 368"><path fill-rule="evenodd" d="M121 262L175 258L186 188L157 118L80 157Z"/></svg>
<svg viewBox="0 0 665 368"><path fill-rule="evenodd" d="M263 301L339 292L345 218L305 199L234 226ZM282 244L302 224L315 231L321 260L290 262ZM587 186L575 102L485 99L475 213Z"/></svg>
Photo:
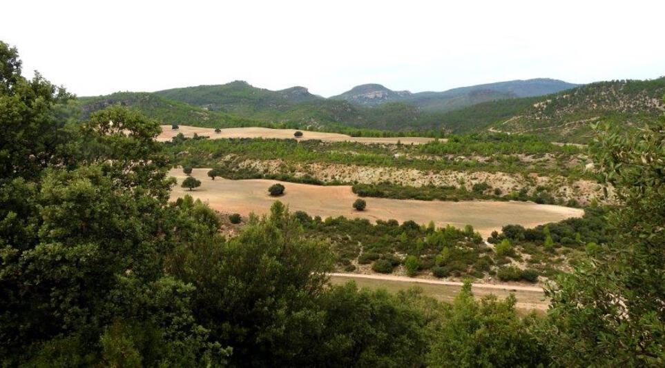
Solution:
<svg viewBox="0 0 665 368"><path fill-rule="evenodd" d="M550 287L548 337L559 365L665 365L665 118L625 136L605 127L595 150L625 204L615 240Z"/></svg>

